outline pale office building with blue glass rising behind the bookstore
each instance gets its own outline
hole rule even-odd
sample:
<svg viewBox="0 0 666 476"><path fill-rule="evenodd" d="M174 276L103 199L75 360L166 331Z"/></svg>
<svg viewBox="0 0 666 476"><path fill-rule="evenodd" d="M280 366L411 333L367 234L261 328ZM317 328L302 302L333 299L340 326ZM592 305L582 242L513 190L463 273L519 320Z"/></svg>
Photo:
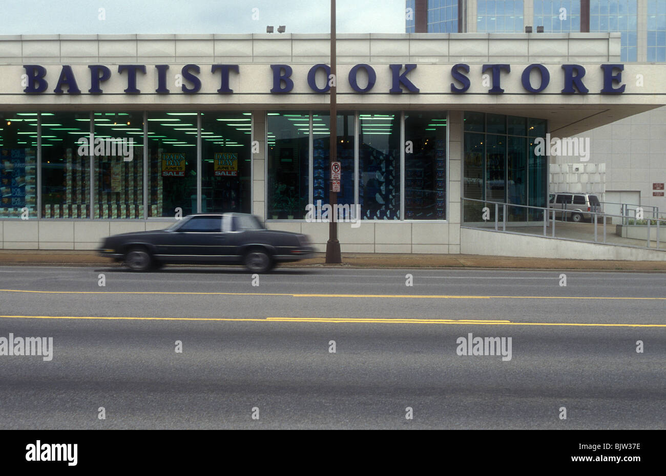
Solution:
<svg viewBox="0 0 666 476"><path fill-rule="evenodd" d="M666 0L407 0L406 6L414 13L421 7L427 15L421 30L418 18L408 18L408 33L521 33L526 27L533 32L542 27L544 33L617 32L622 63L666 62ZM660 188L666 181L665 119L666 109L657 109L578 135L590 140L587 163L551 157L551 190L593 191L613 214L621 203L666 211Z"/></svg>

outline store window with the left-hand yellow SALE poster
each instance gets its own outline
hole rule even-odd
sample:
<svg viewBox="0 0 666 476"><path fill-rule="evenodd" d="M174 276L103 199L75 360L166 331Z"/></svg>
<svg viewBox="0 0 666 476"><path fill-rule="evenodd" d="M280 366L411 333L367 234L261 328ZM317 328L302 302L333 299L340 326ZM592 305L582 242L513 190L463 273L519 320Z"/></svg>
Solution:
<svg viewBox="0 0 666 476"><path fill-rule="evenodd" d="M148 113L149 218L196 213L197 121L196 113Z"/></svg>

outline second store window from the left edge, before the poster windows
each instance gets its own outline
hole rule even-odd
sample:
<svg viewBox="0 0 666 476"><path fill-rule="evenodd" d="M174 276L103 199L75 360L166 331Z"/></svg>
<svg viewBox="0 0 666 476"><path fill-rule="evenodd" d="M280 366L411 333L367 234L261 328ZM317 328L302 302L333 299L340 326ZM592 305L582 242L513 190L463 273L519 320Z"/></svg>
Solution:
<svg viewBox="0 0 666 476"><path fill-rule="evenodd" d="M81 148L90 138L90 113L41 113L40 119L41 217L90 218L91 151ZM26 194L32 190L26 187Z"/></svg>

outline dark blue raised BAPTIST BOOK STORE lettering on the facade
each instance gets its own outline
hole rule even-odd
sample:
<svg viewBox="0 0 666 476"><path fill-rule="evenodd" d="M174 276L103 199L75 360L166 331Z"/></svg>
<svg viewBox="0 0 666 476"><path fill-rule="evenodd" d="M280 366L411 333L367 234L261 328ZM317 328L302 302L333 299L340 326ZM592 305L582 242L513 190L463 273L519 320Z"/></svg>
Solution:
<svg viewBox="0 0 666 476"><path fill-rule="evenodd" d="M398 64L388 65L390 69L391 88L388 90L390 94L402 93L420 93L420 89L415 85L412 80L408 78L410 72L416 70L416 64ZM549 65L552 68L552 65ZM23 75L23 90L26 94L41 94L49 91L49 83L47 82L47 69L41 65L24 65L25 75ZM104 65L89 65L89 85L88 93L92 95L101 95L104 93L102 86L103 83L111 79L111 68ZM504 89L501 87L502 74L511 73L511 65L507 64L487 64L476 65L475 69L480 69L480 73L485 76L488 85L492 86L488 89L488 94L502 94ZM290 65L270 65L272 69L272 94L287 94L291 93L294 89L294 81L292 79L293 69ZM589 89L585 86L585 67L581 65L561 65L563 70L563 82L561 84L561 94L587 94ZM155 65L157 74L157 94L169 94L171 91L168 89L167 73L169 65ZM472 69L470 65L458 63L453 65L450 70L450 79L454 82L450 83L450 92L455 94L464 94L470 90L471 80L468 74ZM601 65L603 71L602 87L599 91L602 95L617 95L624 93L625 85L622 83L621 71L624 70L624 65L605 64ZM240 65L211 65L210 73L215 75L219 73L220 82L217 92L220 94L233 94L234 91L229 87L230 74L234 72L236 75L240 74ZM117 67L117 74L127 76L127 88L123 91L126 94L141 94L141 89L137 87L137 76L146 75L146 65L119 65ZM182 78L181 91L184 94L196 94L201 90L201 69L198 65L184 65L180 69L180 77ZM317 84L317 75L321 73L324 77L323 85ZM364 76L364 85L359 85L359 75ZM521 75L521 85L528 93L541 93L547 89L550 84L551 73L545 65L532 64L524 67ZM536 75L538 79L535 84L532 83L531 77ZM81 78L79 78L81 79ZM326 81L328 79L328 81ZM328 65L318 64L310 68L307 75L308 86L313 93L328 93L335 81L330 75L330 67ZM351 67L348 73L348 82L350 87L356 93L370 93L373 91L377 81L376 70L366 64L358 64ZM65 91L67 88L67 91ZM79 80L69 65L63 65L59 73L58 80L53 89L55 94L69 94L80 95Z"/></svg>

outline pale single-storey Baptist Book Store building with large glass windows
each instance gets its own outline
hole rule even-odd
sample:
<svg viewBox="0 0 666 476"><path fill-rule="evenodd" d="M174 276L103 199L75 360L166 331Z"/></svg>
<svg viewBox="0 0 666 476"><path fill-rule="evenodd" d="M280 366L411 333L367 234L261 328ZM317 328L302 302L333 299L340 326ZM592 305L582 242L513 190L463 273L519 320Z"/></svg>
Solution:
<svg viewBox="0 0 666 476"><path fill-rule="evenodd" d="M666 67L620 50L617 33L340 35L338 203L360 220L342 252L460 253L480 221L463 197L545 206L536 138L664 103ZM330 186L328 51L328 35L0 37L1 246L94 249L236 211L324 250L307 210Z"/></svg>

